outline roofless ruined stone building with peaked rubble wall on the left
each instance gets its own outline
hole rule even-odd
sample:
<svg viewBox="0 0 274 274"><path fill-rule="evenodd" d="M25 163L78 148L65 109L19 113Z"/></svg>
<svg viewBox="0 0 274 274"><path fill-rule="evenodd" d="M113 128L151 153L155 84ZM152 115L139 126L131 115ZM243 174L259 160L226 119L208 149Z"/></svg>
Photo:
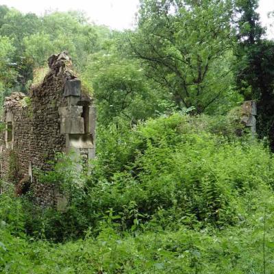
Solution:
<svg viewBox="0 0 274 274"><path fill-rule="evenodd" d="M51 55L49 72L29 94L5 98L0 139L1 178L30 182L39 200L53 199L50 186L36 182L33 170L51 169L55 153L74 151L88 162L95 157L95 107L71 70L66 53Z"/></svg>

